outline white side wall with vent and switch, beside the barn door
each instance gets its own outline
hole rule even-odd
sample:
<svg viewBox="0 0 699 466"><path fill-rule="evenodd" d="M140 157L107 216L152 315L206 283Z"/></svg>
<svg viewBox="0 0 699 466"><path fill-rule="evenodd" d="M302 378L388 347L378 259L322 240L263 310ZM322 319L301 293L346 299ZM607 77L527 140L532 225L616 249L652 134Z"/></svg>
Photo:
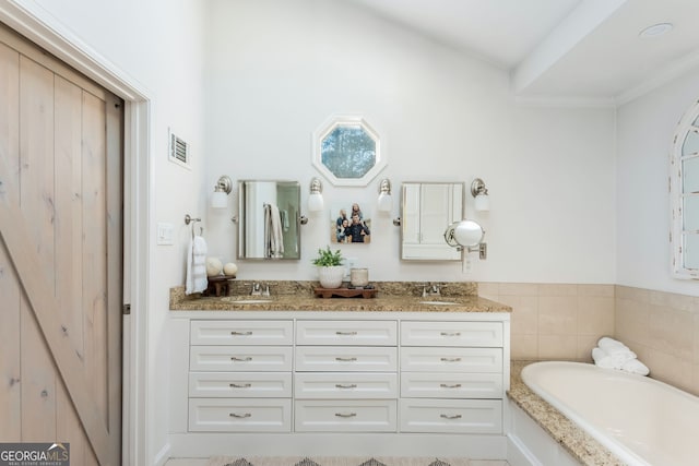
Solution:
<svg viewBox="0 0 699 466"><path fill-rule="evenodd" d="M150 150L153 200L150 205L153 231L150 238L152 264L149 277L147 313L149 386L146 408L149 431L142 440L147 445L147 464L154 464L167 449L168 377L166 323L168 288L183 283L185 251L190 229L183 217L203 215L203 41L204 4L198 0L24 0L38 5L61 33L71 40L87 45L93 56L110 62L118 74L146 89L151 100ZM44 14L42 13L44 17ZM192 170L167 159L167 131L174 130L193 147ZM145 207L145 199L140 200ZM176 244L155 247L155 224L175 226ZM125 386L133 381L125 381ZM143 381L140 381L143 383Z"/></svg>

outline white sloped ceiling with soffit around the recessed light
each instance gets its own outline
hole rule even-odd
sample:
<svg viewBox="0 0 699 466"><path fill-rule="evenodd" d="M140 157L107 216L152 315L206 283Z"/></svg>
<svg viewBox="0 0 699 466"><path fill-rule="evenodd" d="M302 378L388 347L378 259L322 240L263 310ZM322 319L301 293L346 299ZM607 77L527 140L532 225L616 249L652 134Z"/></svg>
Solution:
<svg viewBox="0 0 699 466"><path fill-rule="evenodd" d="M699 64L699 0L347 1L502 68L522 100L619 105Z"/></svg>

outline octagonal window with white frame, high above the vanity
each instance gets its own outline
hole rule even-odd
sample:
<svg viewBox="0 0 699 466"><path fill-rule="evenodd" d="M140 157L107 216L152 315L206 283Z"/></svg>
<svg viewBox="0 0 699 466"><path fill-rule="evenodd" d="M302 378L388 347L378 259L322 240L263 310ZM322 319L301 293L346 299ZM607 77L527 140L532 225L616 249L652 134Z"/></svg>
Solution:
<svg viewBox="0 0 699 466"><path fill-rule="evenodd" d="M366 186L386 166L378 134L359 117L331 118L313 141L313 165L335 186Z"/></svg>

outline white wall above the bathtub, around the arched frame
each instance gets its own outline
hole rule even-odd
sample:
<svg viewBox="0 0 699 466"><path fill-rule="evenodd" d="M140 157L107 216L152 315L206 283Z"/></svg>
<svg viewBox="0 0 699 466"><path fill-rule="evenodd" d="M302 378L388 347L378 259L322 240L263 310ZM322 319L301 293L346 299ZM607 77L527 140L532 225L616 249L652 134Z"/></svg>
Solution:
<svg viewBox="0 0 699 466"><path fill-rule="evenodd" d="M672 276L667 192L673 134L699 98L699 68L618 109L617 284L699 296Z"/></svg>

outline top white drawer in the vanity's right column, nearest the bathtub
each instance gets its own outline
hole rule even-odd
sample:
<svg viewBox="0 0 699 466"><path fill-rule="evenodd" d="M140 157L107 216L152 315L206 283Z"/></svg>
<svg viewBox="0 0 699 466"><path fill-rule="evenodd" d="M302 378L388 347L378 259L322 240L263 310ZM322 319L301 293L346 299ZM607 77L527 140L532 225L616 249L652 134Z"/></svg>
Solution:
<svg viewBox="0 0 699 466"><path fill-rule="evenodd" d="M502 346L501 322L401 322L403 346Z"/></svg>

